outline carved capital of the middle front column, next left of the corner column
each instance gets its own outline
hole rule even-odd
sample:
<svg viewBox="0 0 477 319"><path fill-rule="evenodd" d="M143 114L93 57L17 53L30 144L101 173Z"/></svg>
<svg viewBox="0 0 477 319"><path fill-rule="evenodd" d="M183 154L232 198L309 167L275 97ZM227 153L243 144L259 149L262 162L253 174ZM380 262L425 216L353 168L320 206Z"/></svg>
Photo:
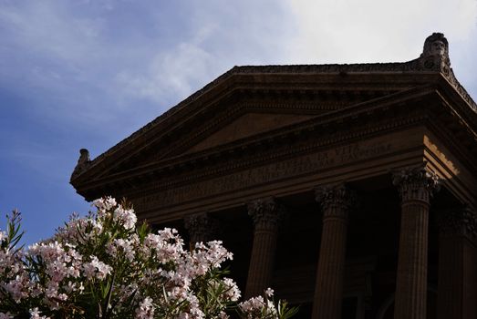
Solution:
<svg viewBox="0 0 477 319"><path fill-rule="evenodd" d="M319 186L315 189L315 196L316 201L320 203L324 211L324 217L334 215L343 215L336 217L347 217L349 209L358 202L356 192L349 189L344 183ZM330 208L338 208L339 210L330 210Z"/></svg>

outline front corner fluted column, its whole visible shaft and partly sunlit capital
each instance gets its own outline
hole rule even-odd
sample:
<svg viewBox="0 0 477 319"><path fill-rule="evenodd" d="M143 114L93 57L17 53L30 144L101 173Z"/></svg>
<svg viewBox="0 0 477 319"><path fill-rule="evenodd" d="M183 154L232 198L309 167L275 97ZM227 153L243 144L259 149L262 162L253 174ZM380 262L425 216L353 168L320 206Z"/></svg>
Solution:
<svg viewBox="0 0 477 319"><path fill-rule="evenodd" d="M395 319L426 318L428 226L432 192L438 178L424 166L393 174L401 199Z"/></svg>

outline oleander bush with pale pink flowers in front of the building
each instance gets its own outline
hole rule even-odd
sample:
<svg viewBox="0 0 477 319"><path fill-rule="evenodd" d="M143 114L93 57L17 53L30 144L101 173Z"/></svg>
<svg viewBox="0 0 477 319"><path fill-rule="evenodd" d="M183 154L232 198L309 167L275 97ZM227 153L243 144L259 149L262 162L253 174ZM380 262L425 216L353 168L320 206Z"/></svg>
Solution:
<svg viewBox="0 0 477 319"><path fill-rule="evenodd" d="M93 204L97 211L26 251L0 232L0 319L228 317L240 291L223 277L233 255L222 242L184 250L176 230L137 228L134 211L113 198ZM279 318L266 293L240 304L241 315Z"/></svg>

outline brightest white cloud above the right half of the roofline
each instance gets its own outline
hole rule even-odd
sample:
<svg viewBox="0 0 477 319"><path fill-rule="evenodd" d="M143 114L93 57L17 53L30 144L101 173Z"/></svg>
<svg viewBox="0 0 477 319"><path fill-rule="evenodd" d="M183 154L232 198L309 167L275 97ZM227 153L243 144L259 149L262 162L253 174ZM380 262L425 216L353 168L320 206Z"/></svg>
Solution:
<svg viewBox="0 0 477 319"><path fill-rule="evenodd" d="M424 39L475 35L477 1L290 0L298 24L289 57L296 63L404 61L419 57Z"/></svg>

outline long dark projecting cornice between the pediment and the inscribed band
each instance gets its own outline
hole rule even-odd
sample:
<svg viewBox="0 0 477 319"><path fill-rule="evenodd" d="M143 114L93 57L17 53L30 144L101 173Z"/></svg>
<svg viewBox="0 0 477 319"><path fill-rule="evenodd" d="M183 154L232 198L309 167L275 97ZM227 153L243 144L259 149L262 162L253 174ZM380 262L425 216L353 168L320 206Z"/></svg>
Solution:
<svg viewBox="0 0 477 319"><path fill-rule="evenodd" d="M420 107L423 103L425 103L425 107ZM260 160L294 156L296 152L323 148L327 145L343 143L346 140L364 139L380 134L382 131L425 123L429 120L430 110L432 112L439 110L442 117L454 117L451 114L452 110L445 109L445 103L442 102L436 87L412 88L384 98L337 109L286 128L264 132L213 149L158 160L142 167L122 171L102 180L85 183L84 188L81 189L88 191L99 184L116 183L118 185L123 182L134 184L134 180L154 180L168 175L180 176L181 171L187 171L188 179L203 178L199 175L218 174L223 170L237 170L241 165L254 165L257 158L254 157L252 161L244 160L247 153L263 153L259 157ZM307 137L308 141L305 144L300 144L299 141L304 137ZM278 147L284 144L289 147L285 149ZM265 154L267 149L270 150L269 155ZM204 169L205 167L208 169ZM198 170L201 173L197 173L199 175L192 174L191 172L197 168L202 168Z"/></svg>

